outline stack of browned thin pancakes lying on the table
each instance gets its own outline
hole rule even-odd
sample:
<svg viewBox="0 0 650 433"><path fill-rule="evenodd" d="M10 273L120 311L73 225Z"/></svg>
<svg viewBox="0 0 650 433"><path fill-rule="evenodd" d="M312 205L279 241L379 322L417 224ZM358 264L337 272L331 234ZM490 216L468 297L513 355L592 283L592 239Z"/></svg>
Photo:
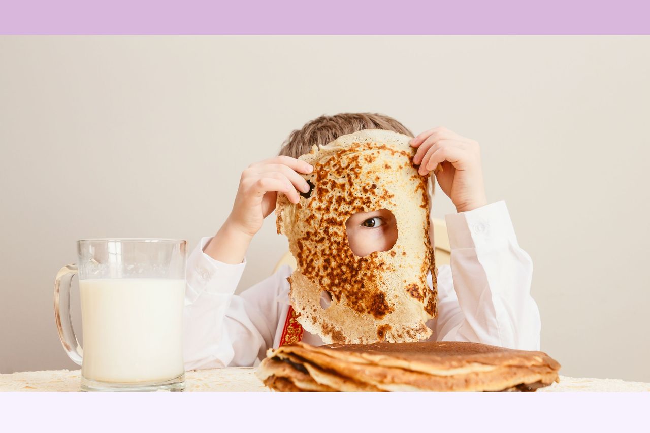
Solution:
<svg viewBox="0 0 650 433"><path fill-rule="evenodd" d="M464 341L295 343L268 350L257 376L276 391L535 391L559 369L544 352Z"/></svg>

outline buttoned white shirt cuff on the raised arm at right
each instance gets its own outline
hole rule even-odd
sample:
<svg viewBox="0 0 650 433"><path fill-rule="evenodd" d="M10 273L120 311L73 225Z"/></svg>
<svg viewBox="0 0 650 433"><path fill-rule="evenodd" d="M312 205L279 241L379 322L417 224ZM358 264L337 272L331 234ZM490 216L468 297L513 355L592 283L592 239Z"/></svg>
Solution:
<svg viewBox="0 0 650 433"><path fill-rule="evenodd" d="M452 250L517 244L506 202L490 203L471 211L445 215Z"/></svg>

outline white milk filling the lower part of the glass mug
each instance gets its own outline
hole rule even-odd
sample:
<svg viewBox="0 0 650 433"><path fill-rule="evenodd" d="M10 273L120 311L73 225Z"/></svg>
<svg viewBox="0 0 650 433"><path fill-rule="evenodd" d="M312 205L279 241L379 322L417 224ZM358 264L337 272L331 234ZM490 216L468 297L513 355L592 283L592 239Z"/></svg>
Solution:
<svg viewBox="0 0 650 433"><path fill-rule="evenodd" d="M100 382L163 382L184 372L185 280L80 280L82 374Z"/></svg>

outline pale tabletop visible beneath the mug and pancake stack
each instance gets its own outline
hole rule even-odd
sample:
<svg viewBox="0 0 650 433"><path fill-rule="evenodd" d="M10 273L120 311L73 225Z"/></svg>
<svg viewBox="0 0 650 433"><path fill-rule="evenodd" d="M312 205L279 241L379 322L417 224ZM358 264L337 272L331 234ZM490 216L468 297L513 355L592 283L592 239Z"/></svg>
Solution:
<svg viewBox="0 0 650 433"><path fill-rule="evenodd" d="M269 391L252 367L194 370L185 374L186 391ZM0 391L79 391L81 370L25 371L0 374ZM560 383L538 389L552 391L650 391L650 384L619 379L560 376Z"/></svg>

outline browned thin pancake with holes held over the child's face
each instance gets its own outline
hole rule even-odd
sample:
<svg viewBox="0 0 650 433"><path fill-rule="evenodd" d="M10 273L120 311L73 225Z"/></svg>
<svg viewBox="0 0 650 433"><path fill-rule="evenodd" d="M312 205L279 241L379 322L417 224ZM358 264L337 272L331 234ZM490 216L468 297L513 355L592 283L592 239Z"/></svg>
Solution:
<svg viewBox="0 0 650 433"><path fill-rule="evenodd" d="M311 192L296 204L278 194L278 233L287 235L298 263L288 278L291 305L303 328L325 343L418 341L432 334L425 325L437 311L429 176L419 175L413 165L410 139L365 129L314 146L300 157L314 167L304 175ZM348 218L380 209L395 217L395 244L385 252L355 256ZM321 306L323 293L331 297L329 306Z"/></svg>

